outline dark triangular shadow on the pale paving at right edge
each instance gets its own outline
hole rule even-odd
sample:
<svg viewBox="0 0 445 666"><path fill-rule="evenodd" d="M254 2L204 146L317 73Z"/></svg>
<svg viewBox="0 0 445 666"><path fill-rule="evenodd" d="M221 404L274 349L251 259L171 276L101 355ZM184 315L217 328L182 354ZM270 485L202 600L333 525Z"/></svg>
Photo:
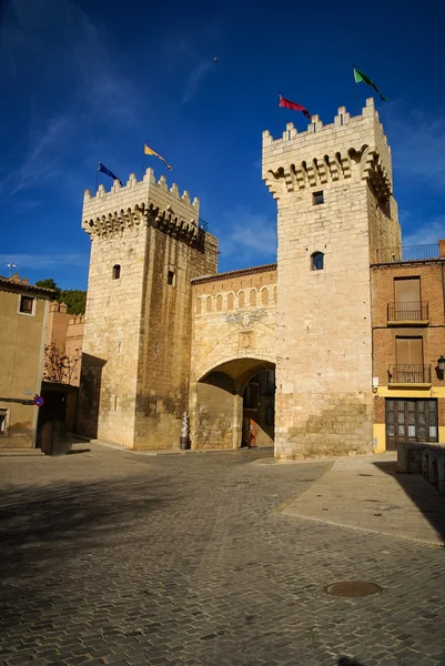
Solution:
<svg viewBox="0 0 445 666"><path fill-rule="evenodd" d="M395 478L425 518L429 521L437 534L445 541L445 497L419 474L401 474L397 472L395 461L374 462L373 464Z"/></svg>

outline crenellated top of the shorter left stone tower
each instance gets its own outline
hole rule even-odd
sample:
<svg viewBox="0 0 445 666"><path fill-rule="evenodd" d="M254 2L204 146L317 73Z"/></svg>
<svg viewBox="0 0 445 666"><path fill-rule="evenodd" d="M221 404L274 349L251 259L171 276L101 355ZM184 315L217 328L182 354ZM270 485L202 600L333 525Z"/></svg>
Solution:
<svg viewBox="0 0 445 666"><path fill-rule="evenodd" d="M103 185L94 196L85 190L82 228L103 236L145 222L194 244L202 235L199 216L198 198L192 201L188 190L181 194L176 183L169 188L164 175L156 181L153 169L148 169L140 181L131 173L124 186L115 180L108 192Z"/></svg>

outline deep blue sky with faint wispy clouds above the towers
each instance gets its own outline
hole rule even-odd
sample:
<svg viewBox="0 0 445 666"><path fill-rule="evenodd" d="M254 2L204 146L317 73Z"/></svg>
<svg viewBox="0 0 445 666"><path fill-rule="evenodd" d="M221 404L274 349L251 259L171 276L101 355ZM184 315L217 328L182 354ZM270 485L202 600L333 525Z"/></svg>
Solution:
<svg viewBox="0 0 445 666"><path fill-rule="evenodd" d="M3 2L3 4L2 4ZM445 238L445 8L348 2L0 0L0 274L85 289L85 188L101 160L127 181L142 145L201 199L220 271L275 260L275 203L261 133L280 91L332 122L355 112L352 64L390 98L376 105L393 150L404 243ZM218 62L213 61L218 57ZM372 90L357 85L360 107ZM303 114L282 110L303 131ZM111 181L103 176L109 186Z"/></svg>

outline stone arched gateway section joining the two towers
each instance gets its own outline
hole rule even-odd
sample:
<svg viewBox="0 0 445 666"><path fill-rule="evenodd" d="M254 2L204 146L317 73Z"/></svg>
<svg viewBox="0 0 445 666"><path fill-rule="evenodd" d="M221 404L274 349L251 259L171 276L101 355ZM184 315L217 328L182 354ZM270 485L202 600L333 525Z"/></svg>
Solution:
<svg viewBox="0 0 445 666"><path fill-rule="evenodd" d="M274 264L193 280L193 448L274 441Z"/></svg>

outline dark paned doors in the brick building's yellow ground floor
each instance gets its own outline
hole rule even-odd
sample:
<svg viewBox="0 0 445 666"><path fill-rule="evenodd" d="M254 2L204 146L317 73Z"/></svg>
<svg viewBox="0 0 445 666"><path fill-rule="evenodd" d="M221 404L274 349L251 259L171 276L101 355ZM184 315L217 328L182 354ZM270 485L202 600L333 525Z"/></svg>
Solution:
<svg viewBox="0 0 445 666"><path fill-rule="evenodd" d="M437 442L437 400L386 398L386 448L400 442Z"/></svg>

